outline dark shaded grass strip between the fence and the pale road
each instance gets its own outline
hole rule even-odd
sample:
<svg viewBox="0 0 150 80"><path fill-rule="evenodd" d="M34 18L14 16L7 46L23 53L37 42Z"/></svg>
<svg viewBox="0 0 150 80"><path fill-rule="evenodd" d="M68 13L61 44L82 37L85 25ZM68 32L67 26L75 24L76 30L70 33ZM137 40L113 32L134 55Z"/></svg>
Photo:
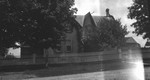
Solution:
<svg viewBox="0 0 150 80"><path fill-rule="evenodd" d="M103 64L103 65L102 65ZM1 67L3 72L21 72L21 74L34 77L51 77L61 75L71 75L89 72L100 72L107 70L117 70L125 68L126 64L121 64L118 61L106 62L88 62L88 63L68 63L68 64L50 64L48 68L44 64L40 65L20 65ZM7 74L6 74L7 75Z"/></svg>

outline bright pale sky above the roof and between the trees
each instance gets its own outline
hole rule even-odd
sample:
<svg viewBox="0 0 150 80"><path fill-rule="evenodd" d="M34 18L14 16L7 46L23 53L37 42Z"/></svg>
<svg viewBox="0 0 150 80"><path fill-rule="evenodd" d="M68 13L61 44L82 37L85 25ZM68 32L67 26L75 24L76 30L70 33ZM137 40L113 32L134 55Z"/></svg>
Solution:
<svg viewBox="0 0 150 80"><path fill-rule="evenodd" d="M75 0L75 7L78 8L77 14L85 15L88 12L92 15L105 16L106 8L110 9L110 14L116 19L121 18L122 24L128 26L130 32L127 36L134 37L134 39L141 44L145 45L146 40L143 40L141 36L136 36L131 32L134 30L130 25L134 20L128 19L128 7L132 5L132 0Z"/></svg>

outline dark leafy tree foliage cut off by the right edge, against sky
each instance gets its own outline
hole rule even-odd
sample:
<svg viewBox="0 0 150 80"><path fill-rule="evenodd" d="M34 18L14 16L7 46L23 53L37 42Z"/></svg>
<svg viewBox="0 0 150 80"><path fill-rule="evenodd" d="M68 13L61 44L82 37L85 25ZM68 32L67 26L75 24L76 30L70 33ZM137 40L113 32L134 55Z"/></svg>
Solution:
<svg viewBox="0 0 150 80"><path fill-rule="evenodd" d="M143 34L143 38L150 38L150 1L133 0L133 2L132 6L128 8L128 18L136 20L131 25L135 28L134 33Z"/></svg>

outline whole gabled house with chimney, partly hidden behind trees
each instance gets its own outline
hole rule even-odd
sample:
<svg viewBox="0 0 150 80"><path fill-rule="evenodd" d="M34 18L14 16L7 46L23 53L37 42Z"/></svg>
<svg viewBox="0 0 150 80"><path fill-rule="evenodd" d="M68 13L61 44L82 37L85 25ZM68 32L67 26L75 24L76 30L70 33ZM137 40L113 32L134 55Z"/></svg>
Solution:
<svg viewBox="0 0 150 80"><path fill-rule="evenodd" d="M68 26L68 28L66 29L65 38L61 40L60 44L57 44L57 49L53 49L54 53L59 55L82 52L84 44L83 39L88 38L87 35L94 32L95 27L97 27L97 23L104 19L114 20L114 17L109 14L109 9L106 9L106 16L92 16L90 12L87 13L85 16L76 15L75 20L73 20L73 25L70 25L72 27ZM25 54L31 55L32 50L33 49L30 49L29 46L22 47L22 57ZM45 52L50 53L51 49L49 48L47 50L37 50L37 54L40 54L40 56L44 56Z"/></svg>

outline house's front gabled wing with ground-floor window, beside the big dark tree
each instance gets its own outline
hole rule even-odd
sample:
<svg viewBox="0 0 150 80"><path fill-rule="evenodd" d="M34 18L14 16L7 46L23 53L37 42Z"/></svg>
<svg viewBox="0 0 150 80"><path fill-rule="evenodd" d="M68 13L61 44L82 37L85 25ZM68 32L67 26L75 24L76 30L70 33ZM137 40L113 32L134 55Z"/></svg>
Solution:
<svg viewBox="0 0 150 80"><path fill-rule="evenodd" d="M82 50L81 42L81 25L74 20L73 26L68 27L65 32L65 38L58 44L59 49L56 49L56 53L79 53Z"/></svg>

